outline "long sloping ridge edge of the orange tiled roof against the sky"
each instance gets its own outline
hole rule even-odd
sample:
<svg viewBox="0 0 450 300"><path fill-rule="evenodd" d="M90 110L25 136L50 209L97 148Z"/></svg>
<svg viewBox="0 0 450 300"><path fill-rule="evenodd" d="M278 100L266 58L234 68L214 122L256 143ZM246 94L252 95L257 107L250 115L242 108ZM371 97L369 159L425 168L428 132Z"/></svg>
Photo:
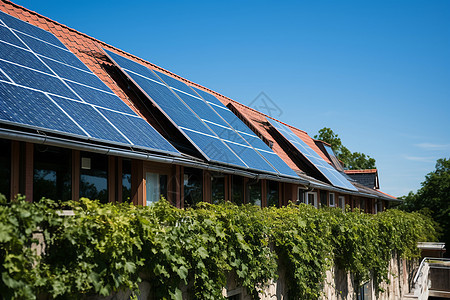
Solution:
<svg viewBox="0 0 450 300"><path fill-rule="evenodd" d="M169 71L169 70L167 70L167 69L165 69L165 68L162 68L162 67L160 67L160 66L158 66L158 65L156 65L156 64L154 64L154 63L152 63L152 62L146 61L146 60L144 60L144 59L142 59L142 58L140 58L140 57L138 57L138 56L136 56L136 55L134 55L134 54L128 53L128 52L126 52L126 51L124 51L124 50L122 50L122 49L119 49L119 48L117 48L117 47L115 47L115 46L112 46L112 45L106 43L106 42L103 42L103 41L101 41L101 40L99 40L99 39L96 39L96 38L94 38L94 37L92 37L92 36L90 36L90 35L88 35L88 34L86 34L86 33L83 33L83 32L81 32L81 31L78 31L78 30L76 30L76 29L74 29L74 28L72 28L72 27L69 27L69 26L67 26L67 25L65 25L65 24L62 24L62 23L60 23L60 22L58 22L58 21L56 21L56 20L53 20L53 19L51 19L51 18L49 18L49 17L46 17L46 16L44 16L44 15L41 15L40 13L35 12L35 11L31 10L31 9L28 9L28 8L22 6L22 5L17 4L17 3L14 3L14 2L12 2L11 0L0 0L0 1L2 1L2 2L6 3L6 4L9 4L9 5L12 5L12 6L14 6L14 7L16 7L16 8L19 8L19 9L21 9L21 10L23 10L23 11L26 11L26 12L28 12L28 13L31 13L31 14L33 14L33 15L35 15L35 16L38 16L39 18L43 18L43 19L45 19L45 20L48 21L48 22L51 22L51 23L56 24L56 25L58 25L58 26L61 26L61 27L65 28L65 29L67 29L67 30L69 30L69 31L72 31L72 32L74 32L74 33L76 33L76 34L82 35L83 37L88 38L88 39L90 39L90 40L92 40L92 41L95 41L95 42L97 42L97 43L99 43L99 44L101 44L101 45L103 45L103 46L107 46L107 47L113 48L114 50L116 50L116 51L118 51L118 52L120 52L120 53L123 53L123 54L125 54L125 55L131 56L131 57L133 57L133 58L136 59L136 60L139 60L139 61L141 61L141 62L144 62L145 64L149 64L149 65L151 65L152 67L154 67L154 68L156 68L156 69L159 69L159 70L161 70L161 71L163 71L163 72L165 72L165 73L167 73L167 74L169 74L169 75L171 75L171 76L174 76L174 77L176 77L176 78L178 78L178 79L181 79L181 80L184 81L184 82L189 83L190 85L193 85L193 86L202 88L202 89L204 89L204 90L206 90L206 91L208 91L208 92L210 92L210 93L212 93L212 94L218 95L218 96L220 96L220 97L222 97L222 98L225 98L225 99L227 99L227 100L229 100L229 101L231 101L231 102L234 102L234 103L236 103L236 104L238 104L238 105L240 105L240 106L243 106L243 107L245 107L245 108L247 108L247 109L250 109L250 110L253 111L253 112L256 112L256 113L258 113L258 114L260 114L260 115L263 115L263 116L265 116L266 118L271 118L271 119L273 119L273 120L275 120L275 121L277 121L277 122L280 122L280 123L282 123L282 124L284 124L284 125L286 125L286 126L288 126L288 127L294 128L294 129L296 129L296 130L299 130L299 131L301 131L301 132L304 132L305 134L308 134L306 131L304 131L304 130L302 130L302 129L296 128L296 127L294 127L294 126L292 126L292 125L289 125L289 124L286 124L286 123L284 123L284 122L282 122L282 121L280 121L280 120L278 120L278 119L275 119L275 118L273 118L273 117L271 117L271 116L269 116L269 115L267 115L267 114L265 114L265 113L263 113L263 112L260 112L260 111L254 109L254 108L251 108L251 107L249 107L249 106L247 106L247 105L245 105L245 104L242 104L242 103L240 103L240 102L238 102L238 101L236 101L236 100L233 100L233 99L231 99L231 98L229 98L229 97L227 97L227 96L225 96L225 95L222 95L222 94L220 94L219 92L213 91L213 90L211 90L210 88L207 88L207 87L205 87L205 86L203 86L203 85L201 85L201 84L198 84L198 83L195 83L195 82L193 82L193 81L191 81L191 80L189 80L189 79L186 79L186 78L184 78L184 77L182 77L182 76L180 76L180 75L178 75L178 74L175 74L175 73L172 72L172 71Z"/></svg>

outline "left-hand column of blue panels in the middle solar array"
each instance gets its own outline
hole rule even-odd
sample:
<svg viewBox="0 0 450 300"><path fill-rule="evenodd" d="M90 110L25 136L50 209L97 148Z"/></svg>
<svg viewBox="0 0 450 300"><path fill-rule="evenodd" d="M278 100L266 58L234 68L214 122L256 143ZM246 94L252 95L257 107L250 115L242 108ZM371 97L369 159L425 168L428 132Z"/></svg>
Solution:
<svg viewBox="0 0 450 300"><path fill-rule="evenodd" d="M104 50L207 160L249 167L153 71L114 52Z"/></svg>

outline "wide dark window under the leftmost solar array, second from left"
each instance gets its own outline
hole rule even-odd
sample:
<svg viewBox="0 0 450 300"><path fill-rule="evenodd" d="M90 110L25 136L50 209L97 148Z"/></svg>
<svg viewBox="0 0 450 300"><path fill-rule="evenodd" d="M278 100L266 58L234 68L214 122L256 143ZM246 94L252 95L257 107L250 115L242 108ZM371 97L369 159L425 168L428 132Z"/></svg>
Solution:
<svg viewBox="0 0 450 300"><path fill-rule="evenodd" d="M72 151L34 146L33 199L67 201L72 198Z"/></svg>

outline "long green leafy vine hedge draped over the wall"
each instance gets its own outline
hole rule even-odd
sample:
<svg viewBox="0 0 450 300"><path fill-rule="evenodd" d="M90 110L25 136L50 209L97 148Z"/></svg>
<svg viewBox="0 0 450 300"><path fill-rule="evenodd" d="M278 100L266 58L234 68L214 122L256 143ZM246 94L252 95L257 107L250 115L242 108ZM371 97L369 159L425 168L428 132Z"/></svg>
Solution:
<svg viewBox="0 0 450 300"><path fill-rule="evenodd" d="M368 215L301 204L281 209L200 203L181 210L64 203L0 205L0 293L5 299L79 299L150 283L155 299L222 299L228 278L255 299L283 272L289 299L317 299L333 264L386 280L393 253L419 255L433 222L399 210ZM61 207L61 206L60 206ZM37 233L45 248L36 253ZM231 277L230 277L231 276Z"/></svg>

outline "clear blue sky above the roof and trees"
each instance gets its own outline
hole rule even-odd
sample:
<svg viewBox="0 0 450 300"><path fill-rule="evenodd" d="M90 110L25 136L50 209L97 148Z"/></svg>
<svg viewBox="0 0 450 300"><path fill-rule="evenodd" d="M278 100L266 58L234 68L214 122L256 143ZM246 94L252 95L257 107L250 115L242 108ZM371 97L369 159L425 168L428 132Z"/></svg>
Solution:
<svg viewBox="0 0 450 300"><path fill-rule="evenodd" d="M374 157L394 196L450 157L450 1L16 3L244 104L265 92Z"/></svg>

